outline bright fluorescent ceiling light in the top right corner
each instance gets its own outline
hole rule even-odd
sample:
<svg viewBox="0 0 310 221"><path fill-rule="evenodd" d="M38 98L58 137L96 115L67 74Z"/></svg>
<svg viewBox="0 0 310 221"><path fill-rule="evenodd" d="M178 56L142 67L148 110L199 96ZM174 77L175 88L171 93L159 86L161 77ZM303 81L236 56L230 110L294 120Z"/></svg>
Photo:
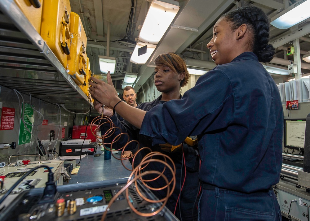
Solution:
<svg viewBox="0 0 310 221"><path fill-rule="evenodd" d="M292 4L278 15L272 17L270 24L276 28L287 29L310 17L310 0Z"/></svg>

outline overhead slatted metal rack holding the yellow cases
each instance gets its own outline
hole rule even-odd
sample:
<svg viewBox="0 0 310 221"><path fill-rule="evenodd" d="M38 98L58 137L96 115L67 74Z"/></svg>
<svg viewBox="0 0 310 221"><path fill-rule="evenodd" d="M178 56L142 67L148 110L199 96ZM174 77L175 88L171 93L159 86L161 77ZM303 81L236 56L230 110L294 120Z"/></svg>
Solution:
<svg viewBox="0 0 310 221"><path fill-rule="evenodd" d="M0 85L75 112L91 104L11 0L0 1Z"/></svg>

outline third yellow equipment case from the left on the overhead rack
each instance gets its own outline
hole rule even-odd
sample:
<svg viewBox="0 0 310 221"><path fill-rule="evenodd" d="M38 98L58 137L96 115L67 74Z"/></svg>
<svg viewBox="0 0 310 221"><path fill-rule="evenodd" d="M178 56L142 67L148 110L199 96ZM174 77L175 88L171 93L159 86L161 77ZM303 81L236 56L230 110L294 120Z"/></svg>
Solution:
<svg viewBox="0 0 310 221"><path fill-rule="evenodd" d="M80 16L70 14L70 54L68 55L67 72L79 86L86 86L86 33Z"/></svg>

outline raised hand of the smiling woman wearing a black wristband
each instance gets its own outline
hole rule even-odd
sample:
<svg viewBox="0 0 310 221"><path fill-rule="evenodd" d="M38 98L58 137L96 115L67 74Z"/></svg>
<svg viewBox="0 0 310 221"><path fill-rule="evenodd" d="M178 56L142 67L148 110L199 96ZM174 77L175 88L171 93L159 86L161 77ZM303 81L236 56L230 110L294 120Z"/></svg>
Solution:
<svg viewBox="0 0 310 221"><path fill-rule="evenodd" d="M104 104L105 106L113 108L113 105L115 105L120 99L114 88L110 72L108 72L107 80L108 84L95 77L91 77L89 81L89 93L102 105Z"/></svg>

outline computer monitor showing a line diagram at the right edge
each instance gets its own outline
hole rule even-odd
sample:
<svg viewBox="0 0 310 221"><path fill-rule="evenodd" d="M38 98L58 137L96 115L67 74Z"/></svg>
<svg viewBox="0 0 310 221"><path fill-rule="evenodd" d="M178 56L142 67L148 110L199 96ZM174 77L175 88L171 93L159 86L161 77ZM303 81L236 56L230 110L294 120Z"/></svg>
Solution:
<svg viewBox="0 0 310 221"><path fill-rule="evenodd" d="M306 119L284 119L284 147L304 150Z"/></svg>

